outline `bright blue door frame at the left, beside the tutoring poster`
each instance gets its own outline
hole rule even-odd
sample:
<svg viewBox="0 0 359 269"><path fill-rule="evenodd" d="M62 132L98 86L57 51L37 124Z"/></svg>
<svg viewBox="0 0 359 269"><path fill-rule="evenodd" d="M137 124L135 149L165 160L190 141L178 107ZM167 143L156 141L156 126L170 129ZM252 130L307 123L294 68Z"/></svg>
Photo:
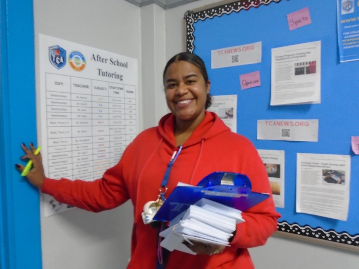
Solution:
<svg viewBox="0 0 359 269"><path fill-rule="evenodd" d="M33 1L0 8L0 268L41 269L39 192L14 167L37 141Z"/></svg>

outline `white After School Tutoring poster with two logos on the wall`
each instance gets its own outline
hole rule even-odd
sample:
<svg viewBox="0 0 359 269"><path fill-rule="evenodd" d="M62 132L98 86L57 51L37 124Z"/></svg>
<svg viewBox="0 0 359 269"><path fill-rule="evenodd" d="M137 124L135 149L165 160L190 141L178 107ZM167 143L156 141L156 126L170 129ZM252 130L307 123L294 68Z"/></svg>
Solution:
<svg viewBox="0 0 359 269"><path fill-rule="evenodd" d="M137 60L39 35L37 122L49 178L93 181L138 131ZM70 208L43 195L45 216Z"/></svg>

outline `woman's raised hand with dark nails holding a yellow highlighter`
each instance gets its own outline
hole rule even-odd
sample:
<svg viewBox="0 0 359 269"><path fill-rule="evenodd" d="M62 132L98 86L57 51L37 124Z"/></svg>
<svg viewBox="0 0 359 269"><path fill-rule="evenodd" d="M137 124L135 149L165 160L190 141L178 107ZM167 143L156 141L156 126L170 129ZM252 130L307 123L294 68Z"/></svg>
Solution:
<svg viewBox="0 0 359 269"><path fill-rule="evenodd" d="M45 172L42 166L41 154L35 155L34 152L36 148L33 143L30 143L30 149L25 146L24 143L21 144L22 149L25 151L25 155L21 157L22 160L30 159L32 160L32 169L27 173L26 178L29 182L41 189L43 182L45 181ZM24 170L25 166L21 164L15 164L15 167L20 172Z"/></svg>

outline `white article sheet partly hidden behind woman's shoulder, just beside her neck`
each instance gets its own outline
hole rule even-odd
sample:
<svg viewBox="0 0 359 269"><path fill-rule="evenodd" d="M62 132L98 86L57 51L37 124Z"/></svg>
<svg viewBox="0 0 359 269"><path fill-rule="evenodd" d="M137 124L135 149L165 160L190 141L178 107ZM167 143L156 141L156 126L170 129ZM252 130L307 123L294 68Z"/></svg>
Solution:
<svg viewBox="0 0 359 269"><path fill-rule="evenodd" d="M214 112L230 128L237 133L237 95L213 95L212 104L207 109Z"/></svg>

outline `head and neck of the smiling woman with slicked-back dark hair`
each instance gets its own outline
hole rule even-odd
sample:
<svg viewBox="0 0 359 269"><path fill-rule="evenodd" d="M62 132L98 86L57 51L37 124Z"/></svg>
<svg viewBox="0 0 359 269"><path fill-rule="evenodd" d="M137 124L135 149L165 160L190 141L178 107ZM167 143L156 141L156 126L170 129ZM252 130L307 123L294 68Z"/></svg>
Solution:
<svg viewBox="0 0 359 269"><path fill-rule="evenodd" d="M176 145L182 145L201 123L205 109L211 104L204 62L187 52L173 56L165 66L163 83L168 108L176 118Z"/></svg>

